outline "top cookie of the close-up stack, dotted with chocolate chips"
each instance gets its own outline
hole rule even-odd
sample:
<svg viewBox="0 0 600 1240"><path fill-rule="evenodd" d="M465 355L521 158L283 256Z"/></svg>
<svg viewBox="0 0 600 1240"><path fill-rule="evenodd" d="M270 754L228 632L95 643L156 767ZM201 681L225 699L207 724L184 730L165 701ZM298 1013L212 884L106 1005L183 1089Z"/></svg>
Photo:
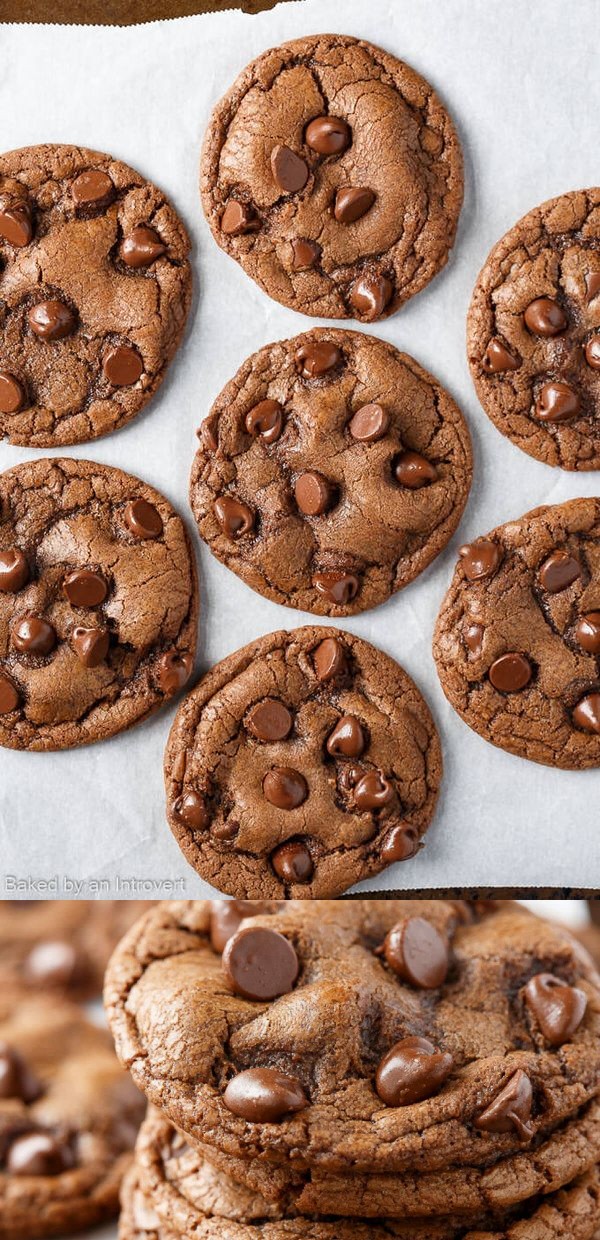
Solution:
<svg viewBox="0 0 600 1240"><path fill-rule="evenodd" d="M598 975L524 909L290 901L247 919L221 968L210 913L160 905L125 936L108 1018L149 1100L268 1200L291 1180L302 1210L332 1177L340 1214L357 1213L357 1183L377 1216L373 1176L493 1163L506 1208L517 1156L534 1163L598 1095Z"/></svg>

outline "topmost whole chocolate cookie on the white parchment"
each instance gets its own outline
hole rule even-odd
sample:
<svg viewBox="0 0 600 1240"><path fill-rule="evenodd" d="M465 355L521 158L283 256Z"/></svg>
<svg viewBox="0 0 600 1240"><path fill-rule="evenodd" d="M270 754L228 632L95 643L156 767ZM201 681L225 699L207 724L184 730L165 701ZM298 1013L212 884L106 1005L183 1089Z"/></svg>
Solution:
<svg viewBox="0 0 600 1240"><path fill-rule="evenodd" d="M264 52L217 104L201 190L216 242L269 296L373 322L446 263L462 156L414 69L314 35Z"/></svg>

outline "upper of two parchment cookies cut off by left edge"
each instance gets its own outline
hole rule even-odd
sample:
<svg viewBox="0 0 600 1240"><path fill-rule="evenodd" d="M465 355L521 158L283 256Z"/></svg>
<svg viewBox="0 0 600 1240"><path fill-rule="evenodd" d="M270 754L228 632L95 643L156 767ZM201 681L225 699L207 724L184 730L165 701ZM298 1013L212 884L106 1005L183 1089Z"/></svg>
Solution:
<svg viewBox="0 0 600 1240"><path fill-rule="evenodd" d="M164 193L110 155L1 155L0 436L79 444L135 417L183 332L188 250Z"/></svg>

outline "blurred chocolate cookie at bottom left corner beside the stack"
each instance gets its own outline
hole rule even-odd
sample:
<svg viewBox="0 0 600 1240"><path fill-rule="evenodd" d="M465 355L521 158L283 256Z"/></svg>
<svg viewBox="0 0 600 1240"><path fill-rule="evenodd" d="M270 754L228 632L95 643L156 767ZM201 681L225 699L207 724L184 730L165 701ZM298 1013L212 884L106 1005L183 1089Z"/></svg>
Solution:
<svg viewBox="0 0 600 1240"><path fill-rule="evenodd" d="M0 1235L64 1236L117 1214L143 1099L105 1032L57 998L0 1023Z"/></svg>

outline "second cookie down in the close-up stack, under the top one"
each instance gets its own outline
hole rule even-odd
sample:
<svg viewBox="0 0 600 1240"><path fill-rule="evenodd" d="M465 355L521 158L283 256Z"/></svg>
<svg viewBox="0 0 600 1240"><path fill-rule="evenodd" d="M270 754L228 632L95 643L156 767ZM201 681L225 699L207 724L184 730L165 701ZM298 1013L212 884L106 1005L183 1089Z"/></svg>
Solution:
<svg viewBox="0 0 600 1240"><path fill-rule="evenodd" d="M598 1104L591 1105L596 1112L600 1110ZM595 1130L598 1138L598 1115ZM356 1177L356 1184L346 1177L350 1199L345 1199L345 1214L351 1215L353 1209L357 1214L356 1218L340 1216L336 1226L348 1240L368 1240L369 1226L376 1226L374 1235L378 1240L379 1236L383 1240L388 1235L407 1234L429 1240L430 1235L462 1236L465 1230L474 1230L476 1226L483 1231L492 1218L497 1226L505 1218L510 1220L521 1214L529 1216L543 1198L548 1199L586 1171L595 1169L598 1140L595 1146L588 1146L585 1154L585 1142L580 1141L580 1157L565 1158L568 1145L571 1143L574 1148L578 1145L576 1138L570 1140L573 1137L573 1132L559 1133L555 1151L552 1151L550 1137L533 1158L517 1154L512 1159L500 1159L498 1164L491 1163L481 1171L467 1167L438 1174L388 1177L381 1203L392 1209L393 1214L388 1220L378 1216L381 1231L374 1221L361 1219L364 1177ZM342 1192L342 1176L333 1176L331 1195L327 1194L326 1179L321 1178L317 1183L312 1180L300 1198L290 1189L279 1202L273 1202L255 1189L244 1187L239 1178L236 1180L226 1171L214 1167L210 1161L212 1151L192 1147L165 1116L149 1109L136 1142L135 1173L140 1192L152 1203L155 1225L174 1230L179 1228L185 1236L195 1236L200 1230L207 1238L221 1236L223 1233L218 1228L229 1226L232 1238L247 1240L257 1225L264 1226L268 1223L265 1235L276 1240L281 1225L283 1235L291 1229L291 1235L312 1236L310 1229L317 1219L321 1225L326 1220L331 1223L333 1210L330 1209L330 1203L336 1200L336 1190L337 1194ZM511 1179L513 1171L516 1182ZM395 1184L393 1179L397 1180ZM376 1211L379 1182L382 1177L376 1176L368 1184L366 1202L372 1213ZM460 1210L465 1214L459 1213ZM398 1218L410 1219L410 1223L392 1221ZM325 1235L330 1236L331 1231L326 1230Z"/></svg>

